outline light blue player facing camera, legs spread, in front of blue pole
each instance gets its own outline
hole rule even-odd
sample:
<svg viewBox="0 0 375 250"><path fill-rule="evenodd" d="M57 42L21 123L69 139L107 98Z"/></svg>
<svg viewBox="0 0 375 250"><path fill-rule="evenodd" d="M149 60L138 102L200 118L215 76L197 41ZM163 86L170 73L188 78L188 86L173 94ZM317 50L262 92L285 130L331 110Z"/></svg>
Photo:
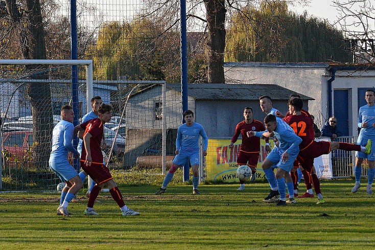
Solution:
<svg viewBox="0 0 375 250"><path fill-rule="evenodd" d="M208 137L203 126L194 122L194 113L191 110L183 112L186 123L178 127L176 139L176 157L164 178L161 188L155 194L166 192L167 185L172 181L175 171L190 161L193 170L193 194L199 194L199 137L203 138L203 156L207 155Z"/></svg>

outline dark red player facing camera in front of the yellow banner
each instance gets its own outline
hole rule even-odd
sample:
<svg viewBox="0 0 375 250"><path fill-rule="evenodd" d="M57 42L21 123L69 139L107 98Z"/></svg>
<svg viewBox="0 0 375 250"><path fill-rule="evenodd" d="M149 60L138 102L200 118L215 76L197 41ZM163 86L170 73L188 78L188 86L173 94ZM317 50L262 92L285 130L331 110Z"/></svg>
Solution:
<svg viewBox="0 0 375 250"><path fill-rule="evenodd" d="M230 140L229 148L233 148L234 143L237 141L240 134L242 135L242 142L240 150L237 155L237 165L248 165L251 168L251 181L255 181L256 165L259 159L261 138L259 137L248 137L248 131L265 131L266 128L263 122L253 119L253 112L251 107L246 107L244 109L245 120L241 121L236 126L235 135L233 135ZM268 143L268 138L266 139L266 151L270 152L270 146ZM240 180L240 187L238 190L245 189L245 182Z"/></svg>

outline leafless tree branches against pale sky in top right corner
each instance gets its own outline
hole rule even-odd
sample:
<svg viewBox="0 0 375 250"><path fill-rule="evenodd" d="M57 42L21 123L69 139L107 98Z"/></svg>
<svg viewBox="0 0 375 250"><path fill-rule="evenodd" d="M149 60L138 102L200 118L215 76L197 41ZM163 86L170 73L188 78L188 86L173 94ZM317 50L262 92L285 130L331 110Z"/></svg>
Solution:
<svg viewBox="0 0 375 250"><path fill-rule="evenodd" d="M333 1L338 10L334 23L345 34L346 47L355 63L375 64L375 3L371 0Z"/></svg>

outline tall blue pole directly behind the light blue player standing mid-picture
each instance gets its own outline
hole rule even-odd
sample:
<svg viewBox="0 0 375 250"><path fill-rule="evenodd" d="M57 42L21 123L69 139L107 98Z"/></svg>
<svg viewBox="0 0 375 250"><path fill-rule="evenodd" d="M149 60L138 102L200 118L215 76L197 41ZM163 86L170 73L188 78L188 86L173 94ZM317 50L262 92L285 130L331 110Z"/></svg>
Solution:
<svg viewBox="0 0 375 250"><path fill-rule="evenodd" d="M186 43L186 1L180 0L180 19L181 19L181 94L182 94L182 113L189 107L187 106L187 43ZM185 120L182 117L182 122ZM189 181L189 162L183 166L183 181Z"/></svg>

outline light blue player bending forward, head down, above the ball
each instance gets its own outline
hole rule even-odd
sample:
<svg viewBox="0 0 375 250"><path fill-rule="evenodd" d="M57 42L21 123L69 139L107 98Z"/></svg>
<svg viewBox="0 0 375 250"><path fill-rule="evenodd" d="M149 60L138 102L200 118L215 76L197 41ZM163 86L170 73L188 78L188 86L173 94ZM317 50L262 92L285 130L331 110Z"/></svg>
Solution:
<svg viewBox="0 0 375 250"><path fill-rule="evenodd" d="M273 196L279 194L280 199L276 203L276 206L287 205L285 192L286 183L289 193L289 203L295 204L293 181L289 172L293 168L293 162L298 156L299 144L302 142L302 139L294 133L293 129L285 121L278 117L276 118L276 116L272 114L269 114L264 118L264 124L268 132L248 131L247 136L269 137L273 134L279 142L278 147L274 147L271 153L262 163L262 168L263 166L266 167L266 169L263 169L265 169L267 179L269 178L269 175L267 175L266 170L271 170L271 165L277 164L277 170L275 175L271 170L272 176L274 176L276 179L277 187L274 188L271 186L272 190L269 196L271 196L272 198ZM271 184L274 185L273 180L272 183L270 182L270 185Z"/></svg>

